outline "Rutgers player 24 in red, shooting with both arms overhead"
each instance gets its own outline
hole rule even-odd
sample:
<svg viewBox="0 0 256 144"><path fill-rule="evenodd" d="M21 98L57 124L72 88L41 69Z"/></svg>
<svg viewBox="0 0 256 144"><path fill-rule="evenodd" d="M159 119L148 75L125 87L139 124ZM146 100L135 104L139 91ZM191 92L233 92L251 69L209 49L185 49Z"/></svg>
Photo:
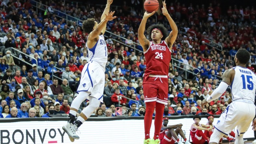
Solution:
<svg viewBox="0 0 256 144"><path fill-rule="evenodd" d="M154 24L148 27L147 31L151 34L150 40L144 35L147 18L155 14L144 13L138 29L139 43L143 47L146 57L146 71L143 79L143 90L147 111L144 118L145 139L144 144L160 143L159 134L162 126L164 106L168 102L168 70L171 61L171 51L173 43L178 34L178 28L169 15L165 1L162 8L163 15L168 19L172 31L167 34L167 29L162 24ZM152 115L156 108L155 133L150 140L149 131L152 123Z"/></svg>

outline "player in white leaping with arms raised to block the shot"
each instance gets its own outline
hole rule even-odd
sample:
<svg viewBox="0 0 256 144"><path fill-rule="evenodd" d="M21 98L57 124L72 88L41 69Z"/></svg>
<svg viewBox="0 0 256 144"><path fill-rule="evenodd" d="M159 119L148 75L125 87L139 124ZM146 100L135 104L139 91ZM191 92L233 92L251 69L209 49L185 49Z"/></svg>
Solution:
<svg viewBox="0 0 256 144"><path fill-rule="evenodd" d="M77 89L79 94L71 104L68 123L62 127L69 135L71 141L72 138L79 139L76 134L78 127L99 107L100 102L103 102L104 73L108 60L107 45L103 35L107 22L116 18L113 17L115 12L109 12L112 2L113 0L107 1L99 24L94 18L88 18L83 22L83 30L89 33L86 47L88 48L90 61L83 68L80 85ZM89 99L90 104L83 109L75 121L78 108L85 99Z"/></svg>

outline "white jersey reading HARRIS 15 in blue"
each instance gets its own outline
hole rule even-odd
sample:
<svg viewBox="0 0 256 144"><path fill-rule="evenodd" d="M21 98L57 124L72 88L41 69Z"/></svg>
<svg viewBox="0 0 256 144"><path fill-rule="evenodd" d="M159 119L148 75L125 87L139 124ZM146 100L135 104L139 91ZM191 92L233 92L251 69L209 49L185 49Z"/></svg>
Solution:
<svg viewBox="0 0 256 144"><path fill-rule="evenodd" d="M246 99L254 102L256 75L248 68L236 66L233 69L236 73L230 85L232 101Z"/></svg>

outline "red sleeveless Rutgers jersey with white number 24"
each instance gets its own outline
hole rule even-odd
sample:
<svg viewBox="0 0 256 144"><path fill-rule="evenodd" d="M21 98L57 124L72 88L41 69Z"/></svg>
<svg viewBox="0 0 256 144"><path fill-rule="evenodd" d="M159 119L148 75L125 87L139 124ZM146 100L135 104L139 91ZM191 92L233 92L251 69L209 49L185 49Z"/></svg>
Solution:
<svg viewBox="0 0 256 144"><path fill-rule="evenodd" d="M148 75L168 76L171 54L172 52L165 41L161 41L159 44L154 44L151 41L147 51L144 52L147 61L145 78Z"/></svg>

